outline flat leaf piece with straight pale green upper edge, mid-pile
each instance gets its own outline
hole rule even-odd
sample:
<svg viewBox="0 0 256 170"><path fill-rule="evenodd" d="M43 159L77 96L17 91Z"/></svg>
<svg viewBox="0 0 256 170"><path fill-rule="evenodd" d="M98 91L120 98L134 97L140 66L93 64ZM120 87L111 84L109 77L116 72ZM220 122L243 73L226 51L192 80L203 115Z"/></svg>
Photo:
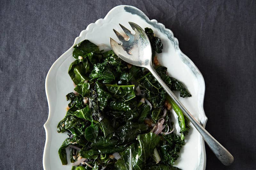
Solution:
<svg viewBox="0 0 256 170"><path fill-rule="evenodd" d="M125 101L135 97L134 85L119 86L116 84L106 84L106 87L115 98L123 98Z"/></svg>

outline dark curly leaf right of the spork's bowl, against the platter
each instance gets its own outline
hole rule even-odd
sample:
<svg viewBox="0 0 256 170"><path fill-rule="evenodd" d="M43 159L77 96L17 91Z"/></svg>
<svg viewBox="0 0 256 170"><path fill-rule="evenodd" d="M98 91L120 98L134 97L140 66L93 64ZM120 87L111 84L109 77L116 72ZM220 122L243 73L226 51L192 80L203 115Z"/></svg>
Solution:
<svg viewBox="0 0 256 170"><path fill-rule="evenodd" d="M162 53L162 49L164 46L161 42L161 39L154 36L154 32L151 28L145 28L145 32L151 44L152 56L154 57L155 53Z"/></svg>

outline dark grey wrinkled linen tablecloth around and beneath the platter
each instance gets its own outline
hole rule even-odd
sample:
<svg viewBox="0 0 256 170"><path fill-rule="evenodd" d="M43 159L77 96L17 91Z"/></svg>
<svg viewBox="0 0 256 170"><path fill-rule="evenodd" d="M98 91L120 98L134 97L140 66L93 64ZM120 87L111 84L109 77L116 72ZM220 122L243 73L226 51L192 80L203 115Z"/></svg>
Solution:
<svg viewBox="0 0 256 170"><path fill-rule="evenodd" d="M235 157L206 169L255 169L256 1L0 1L0 169L43 169L44 91L52 63L116 5L171 29L206 84L206 129Z"/></svg>

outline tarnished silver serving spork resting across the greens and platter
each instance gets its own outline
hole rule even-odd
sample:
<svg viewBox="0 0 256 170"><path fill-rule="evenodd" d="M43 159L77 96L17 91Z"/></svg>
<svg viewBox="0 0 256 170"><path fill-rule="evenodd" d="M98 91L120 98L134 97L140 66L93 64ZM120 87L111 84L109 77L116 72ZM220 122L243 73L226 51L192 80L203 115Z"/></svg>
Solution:
<svg viewBox="0 0 256 170"><path fill-rule="evenodd" d="M164 88L167 94L173 99L173 101L180 107L182 112L188 117L190 122L196 127L197 131L202 135L204 141L209 145L212 152L216 157L224 164L230 165L234 161L234 157L224 148L215 138L207 132L204 127L197 122L189 111L180 103L178 98L172 93L168 86L164 83L161 77L156 73L151 62L151 45L147 34L137 24L129 22L134 34L130 30L119 24L124 30L126 36L122 36L119 32L114 30L117 38L121 41L119 45L114 39L110 38L110 45L114 53L127 63L135 66L147 68L151 74L156 78L159 84Z"/></svg>

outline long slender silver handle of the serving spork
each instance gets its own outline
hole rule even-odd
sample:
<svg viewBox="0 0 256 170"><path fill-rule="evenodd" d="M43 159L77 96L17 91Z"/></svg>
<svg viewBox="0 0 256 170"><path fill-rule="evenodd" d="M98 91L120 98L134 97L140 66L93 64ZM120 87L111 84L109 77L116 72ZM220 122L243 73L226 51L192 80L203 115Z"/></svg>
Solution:
<svg viewBox="0 0 256 170"><path fill-rule="evenodd" d="M213 138L212 135L210 135L210 133L206 131L201 124L198 123L196 118L189 113L189 111L183 106L183 104L180 103L178 98L172 93L169 87L164 83L164 81L157 74L156 70L153 68L152 65L148 67L148 70L156 78L159 84L164 88L167 94L173 99L173 101L179 106L182 112L188 117L190 122L195 126L197 131L202 135L202 137L204 138L204 141L211 148L212 152L216 155L216 157L220 160L220 162L222 162L226 166L232 164L232 162L234 161L234 157L215 138Z"/></svg>

